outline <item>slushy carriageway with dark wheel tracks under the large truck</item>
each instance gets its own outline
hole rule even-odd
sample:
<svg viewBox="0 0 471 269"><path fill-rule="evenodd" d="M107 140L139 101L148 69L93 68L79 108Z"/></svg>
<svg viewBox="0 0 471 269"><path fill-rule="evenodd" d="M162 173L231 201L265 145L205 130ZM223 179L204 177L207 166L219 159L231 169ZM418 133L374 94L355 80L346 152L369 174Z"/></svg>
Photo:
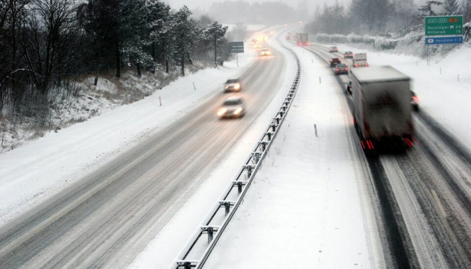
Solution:
<svg viewBox="0 0 471 269"><path fill-rule="evenodd" d="M307 49L326 64L342 56L323 45ZM344 91L347 76L338 81ZM471 268L470 151L426 111L415 114L415 127L418 145L406 154L367 158L385 256L398 268ZM353 127L351 134L358 139Z"/></svg>

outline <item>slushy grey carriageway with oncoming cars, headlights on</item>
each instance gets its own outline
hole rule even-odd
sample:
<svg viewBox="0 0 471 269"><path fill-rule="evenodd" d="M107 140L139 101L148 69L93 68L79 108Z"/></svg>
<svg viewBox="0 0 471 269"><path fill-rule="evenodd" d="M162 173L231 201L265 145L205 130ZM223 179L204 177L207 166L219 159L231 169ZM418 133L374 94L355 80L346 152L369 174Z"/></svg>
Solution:
<svg viewBox="0 0 471 269"><path fill-rule="evenodd" d="M209 98L0 230L2 268L126 266L224 158L279 88L286 59L259 57L242 76L247 113L217 120ZM222 91L222 89L221 89Z"/></svg>

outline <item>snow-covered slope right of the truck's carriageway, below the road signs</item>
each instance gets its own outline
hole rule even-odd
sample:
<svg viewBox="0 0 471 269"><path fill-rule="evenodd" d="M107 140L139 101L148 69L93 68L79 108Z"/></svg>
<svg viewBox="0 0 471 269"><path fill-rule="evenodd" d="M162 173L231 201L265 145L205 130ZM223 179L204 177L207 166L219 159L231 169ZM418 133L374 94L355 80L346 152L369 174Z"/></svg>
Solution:
<svg viewBox="0 0 471 269"><path fill-rule="evenodd" d="M471 59L471 48L456 48L444 58L426 59L378 53L340 45L340 52L366 52L371 65L392 65L414 79L413 90L420 99L420 110L432 116L450 134L471 150L471 72L463 59Z"/></svg>

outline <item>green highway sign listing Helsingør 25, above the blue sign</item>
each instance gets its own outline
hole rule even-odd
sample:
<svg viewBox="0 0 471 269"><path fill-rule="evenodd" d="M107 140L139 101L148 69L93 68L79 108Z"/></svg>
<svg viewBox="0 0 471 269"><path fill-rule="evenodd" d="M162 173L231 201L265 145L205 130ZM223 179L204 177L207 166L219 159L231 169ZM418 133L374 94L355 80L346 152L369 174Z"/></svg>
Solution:
<svg viewBox="0 0 471 269"><path fill-rule="evenodd" d="M462 35L463 16L425 17L425 35Z"/></svg>

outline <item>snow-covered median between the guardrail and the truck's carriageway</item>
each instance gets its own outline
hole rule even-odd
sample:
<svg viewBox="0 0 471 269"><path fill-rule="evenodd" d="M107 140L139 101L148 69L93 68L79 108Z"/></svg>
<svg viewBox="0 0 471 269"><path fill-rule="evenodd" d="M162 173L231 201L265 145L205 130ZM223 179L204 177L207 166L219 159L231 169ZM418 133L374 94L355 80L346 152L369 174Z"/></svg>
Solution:
<svg viewBox="0 0 471 269"><path fill-rule="evenodd" d="M205 268L382 268L345 96L324 62L293 49L302 67L297 95Z"/></svg>

